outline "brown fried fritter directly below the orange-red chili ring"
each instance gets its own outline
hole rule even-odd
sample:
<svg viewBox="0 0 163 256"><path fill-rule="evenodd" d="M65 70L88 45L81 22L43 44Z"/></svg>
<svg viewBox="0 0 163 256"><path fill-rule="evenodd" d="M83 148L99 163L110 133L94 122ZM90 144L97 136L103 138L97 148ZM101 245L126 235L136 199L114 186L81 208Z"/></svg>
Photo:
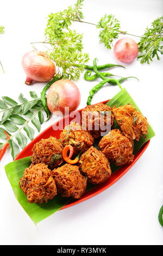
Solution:
<svg viewBox="0 0 163 256"><path fill-rule="evenodd" d="M86 178L80 174L78 166L64 164L52 171L57 191L62 197L82 197L86 190Z"/></svg>

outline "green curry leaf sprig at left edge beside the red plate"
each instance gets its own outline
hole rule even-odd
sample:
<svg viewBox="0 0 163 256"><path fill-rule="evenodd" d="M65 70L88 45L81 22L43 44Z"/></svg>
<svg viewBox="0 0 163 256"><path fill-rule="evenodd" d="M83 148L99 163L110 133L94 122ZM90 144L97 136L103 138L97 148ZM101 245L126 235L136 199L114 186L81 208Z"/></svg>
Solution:
<svg viewBox="0 0 163 256"><path fill-rule="evenodd" d="M30 96L32 99L27 100L23 94L20 94L18 97L20 103L7 96L3 96L0 100L0 138L5 141L0 143L0 149L7 143L5 131L10 135L9 144L13 159L19 153L19 148L26 147L27 137L31 141L33 140L35 130L31 127L31 124L40 132L41 124L44 121L41 99L37 97L35 92L30 92Z"/></svg>

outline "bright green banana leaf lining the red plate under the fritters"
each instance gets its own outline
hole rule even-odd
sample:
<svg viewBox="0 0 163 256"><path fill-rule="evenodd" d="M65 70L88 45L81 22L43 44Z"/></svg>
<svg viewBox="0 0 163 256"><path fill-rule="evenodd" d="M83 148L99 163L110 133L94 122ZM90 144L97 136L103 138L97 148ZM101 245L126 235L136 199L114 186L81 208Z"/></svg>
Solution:
<svg viewBox="0 0 163 256"><path fill-rule="evenodd" d="M136 106L135 102L127 92L125 88L123 88L119 93L117 93L108 103L107 105L114 107L115 105L121 106L126 105L127 103L131 103L137 110L140 109ZM115 127L117 124L115 124ZM145 138L141 138L139 142L135 142L134 145L134 154L139 151L140 147L149 139L151 139L155 135L151 125L148 127L148 135ZM52 215L54 212L59 210L62 206L66 205L69 199L55 196L54 199L49 200L48 203L44 203L41 205L38 204L29 204L27 201L26 195L20 189L18 184L21 176L23 175L23 170L30 165L30 157L25 157L24 159L17 160L11 162L5 166L5 172L8 176L10 184L12 186L12 190L14 191L15 197L18 202L21 204L22 208L27 212L32 221L37 224L42 221L46 217ZM115 172L118 168L114 164L110 164L112 172ZM87 190L90 190L93 186L89 184L87 186Z"/></svg>

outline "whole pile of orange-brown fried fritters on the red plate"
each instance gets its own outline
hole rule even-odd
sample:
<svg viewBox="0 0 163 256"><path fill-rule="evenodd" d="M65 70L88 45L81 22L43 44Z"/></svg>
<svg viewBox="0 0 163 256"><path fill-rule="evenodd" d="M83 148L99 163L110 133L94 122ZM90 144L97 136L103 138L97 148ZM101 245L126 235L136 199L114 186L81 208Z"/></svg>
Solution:
<svg viewBox="0 0 163 256"><path fill-rule="evenodd" d="M34 145L32 164L20 179L29 203L47 203L57 194L81 198L87 182L97 185L110 177L109 161L116 166L133 162L134 139L139 141L148 133L147 119L130 104L111 108L98 103L85 107L82 113L81 126L71 122L60 133L59 140L51 136ZM114 119L120 130L112 129ZM94 138L100 137L108 127L112 130L101 138L99 149L93 147ZM66 145L72 145L74 157L81 154L77 165L64 162L62 150Z"/></svg>

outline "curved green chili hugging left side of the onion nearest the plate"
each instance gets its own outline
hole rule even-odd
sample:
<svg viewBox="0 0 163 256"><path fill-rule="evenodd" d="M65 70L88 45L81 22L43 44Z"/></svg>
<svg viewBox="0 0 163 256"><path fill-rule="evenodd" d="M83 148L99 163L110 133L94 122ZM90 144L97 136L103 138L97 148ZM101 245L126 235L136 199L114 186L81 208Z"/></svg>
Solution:
<svg viewBox="0 0 163 256"><path fill-rule="evenodd" d="M48 106L47 106L46 92L54 82L60 80L61 78L62 78L62 76L59 77L59 78L53 78L53 80L51 80L49 83L46 84L46 86L43 88L43 90L41 92L41 102L42 102L43 108L44 108L44 110L46 112L46 115L47 115L47 120L46 121L48 121L50 116L51 116L51 111L49 111Z"/></svg>

